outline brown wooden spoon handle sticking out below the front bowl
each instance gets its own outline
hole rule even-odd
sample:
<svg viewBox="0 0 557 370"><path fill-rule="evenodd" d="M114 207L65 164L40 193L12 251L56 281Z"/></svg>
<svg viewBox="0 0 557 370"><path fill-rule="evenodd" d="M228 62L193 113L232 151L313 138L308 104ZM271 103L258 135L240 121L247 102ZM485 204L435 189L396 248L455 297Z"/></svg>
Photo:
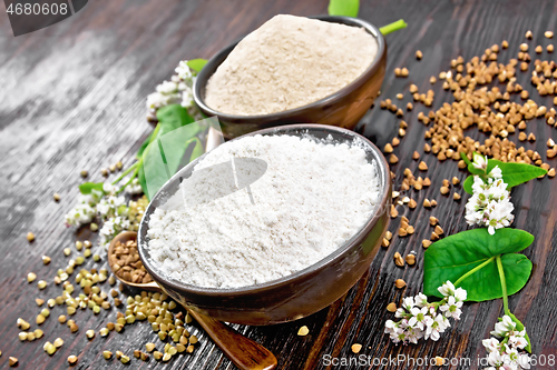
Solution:
<svg viewBox="0 0 557 370"><path fill-rule="evenodd" d="M195 312L187 310L216 346L242 370L272 370L276 368L275 356L253 340L242 336L231 327Z"/></svg>

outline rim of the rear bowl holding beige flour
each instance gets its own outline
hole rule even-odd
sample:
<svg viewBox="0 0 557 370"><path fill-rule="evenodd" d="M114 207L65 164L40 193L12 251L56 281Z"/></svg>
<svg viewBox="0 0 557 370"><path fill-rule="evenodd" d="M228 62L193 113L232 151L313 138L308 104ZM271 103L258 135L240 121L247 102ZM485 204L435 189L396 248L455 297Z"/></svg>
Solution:
<svg viewBox="0 0 557 370"><path fill-rule="evenodd" d="M284 110L284 111L280 111L280 112L275 112L275 113L268 113L268 114L240 116L240 114L224 113L224 112L214 110L213 108L208 107L205 103L205 98L202 94L202 90L205 90L205 87L207 84L208 79L214 74L216 69L224 62L224 60L226 60L226 58L232 52L232 50L236 47L236 44L244 39L244 37L242 37L242 38L238 38L237 40L235 40L234 42L229 43L228 46L224 47L223 49L221 49L217 53L215 53L207 61L207 64L205 66L205 68L203 68L201 70L201 72L197 74L197 78L194 80L194 84L193 84L193 89L192 89L193 90L193 99L194 99L195 103L199 107L199 109L207 116L218 116L218 118L222 118L226 121L240 120L243 123L257 123L258 121L265 120L268 118L273 118L276 120L287 119L292 116L301 114L307 110L319 109L319 108L322 108L323 106L334 104L334 103L339 102L346 94L349 94L350 92L356 90L362 84L364 84L365 81L368 81L371 76L375 74L380 70L383 56L387 52L387 42L385 42L385 39L378 27L375 27L372 23L370 23L365 20L362 20L360 18L351 18L351 17L342 17L342 16L325 16L325 14L310 16L306 18L317 19L317 20L333 22L333 23L341 23L341 24L346 24L346 26L352 26L352 27L363 27L378 41L378 52L375 54L375 59L362 72L362 74L360 74L354 81L350 82L349 84L346 84L342 89L333 92L332 94L330 94L325 98L322 98L320 100L316 100L314 102L311 102L309 104L293 108L293 109L289 109L289 110ZM221 62L218 62L219 59L222 59Z"/></svg>

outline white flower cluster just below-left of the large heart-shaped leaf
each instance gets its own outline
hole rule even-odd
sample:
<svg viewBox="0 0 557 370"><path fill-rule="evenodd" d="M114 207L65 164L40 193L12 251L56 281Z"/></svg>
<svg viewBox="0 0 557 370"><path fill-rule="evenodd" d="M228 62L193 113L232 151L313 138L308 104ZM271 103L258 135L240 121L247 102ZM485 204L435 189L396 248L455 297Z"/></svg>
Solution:
<svg viewBox="0 0 557 370"><path fill-rule="evenodd" d="M418 343L418 340L439 340L440 334L450 327L448 318L460 319L460 308L467 298L462 288L447 281L439 288L444 298L439 302L428 302L428 297L419 293L403 299L402 307L394 316L399 321L388 320L384 332L394 343Z"/></svg>

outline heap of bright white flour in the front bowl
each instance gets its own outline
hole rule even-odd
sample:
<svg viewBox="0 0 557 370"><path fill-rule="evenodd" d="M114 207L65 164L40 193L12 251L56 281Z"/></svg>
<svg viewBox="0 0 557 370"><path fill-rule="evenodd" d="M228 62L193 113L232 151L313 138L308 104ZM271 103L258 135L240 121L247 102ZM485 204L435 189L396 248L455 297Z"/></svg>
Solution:
<svg viewBox="0 0 557 370"><path fill-rule="evenodd" d="M238 288L289 276L332 253L369 219L381 183L361 147L331 142L254 136L209 152L194 180L182 183L185 203L176 206L178 192L150 217L156 269L188 284ZM247 169L257 178L250 186L254 203L246 188L234 191L229 177L222 177L226 171L215 170L232 158L267 164Z"/></svg>

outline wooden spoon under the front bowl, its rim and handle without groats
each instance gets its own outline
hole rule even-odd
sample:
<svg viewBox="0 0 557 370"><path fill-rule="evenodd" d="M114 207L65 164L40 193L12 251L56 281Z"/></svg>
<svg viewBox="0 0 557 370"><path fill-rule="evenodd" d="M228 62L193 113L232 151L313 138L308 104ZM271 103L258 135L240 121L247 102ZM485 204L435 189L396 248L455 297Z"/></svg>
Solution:
<svg viewBox="0 0 557 370"><path fill-rule="evenodd" d="M113 266L116 264L114 249L118 242L125 244L128 240L137 241L137 232L124 231L117 234L108 247L108 264L114 272ZM149 291L163 291L155 282L138 283L124 280L114 273L123 283ZM242 336L231 327L212 319L205 314L198 313L184 307L186 311L199 323L205 332L213 339L216 346L231 359L236 367L242 370L272 370L276 368L275 356L257 342Z"/></svg>

